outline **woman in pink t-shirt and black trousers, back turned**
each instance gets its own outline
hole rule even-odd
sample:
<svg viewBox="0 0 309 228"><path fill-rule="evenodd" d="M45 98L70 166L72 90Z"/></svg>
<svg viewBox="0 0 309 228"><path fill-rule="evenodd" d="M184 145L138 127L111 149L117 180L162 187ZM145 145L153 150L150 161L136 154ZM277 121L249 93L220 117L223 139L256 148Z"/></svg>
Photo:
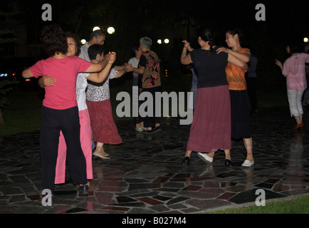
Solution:
<svg viewBox="0 0 309 228"><path fill-rule="evenodd" d="M66 139L68 166L74 185L82 194L88 193L86 162L80 147L80 123L76 101L76 77L80 72L102 71L106 61L89 63L77 56L66 56L66 34L57 25L44 26L41 43L49 58L26 68L23 78L49 75L56 79L46 87L41 109L41 187L53 194L60 131Z"/></svg>

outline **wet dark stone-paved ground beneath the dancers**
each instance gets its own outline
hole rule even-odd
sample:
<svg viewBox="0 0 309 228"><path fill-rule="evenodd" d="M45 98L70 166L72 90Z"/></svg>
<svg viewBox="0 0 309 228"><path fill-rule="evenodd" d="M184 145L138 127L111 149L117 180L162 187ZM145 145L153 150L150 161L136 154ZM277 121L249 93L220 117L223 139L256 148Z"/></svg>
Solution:
<svg viewBox="0 0 309 228"><path fill-rule="evenodd" d="M189 125L162 118L154 135L135 132L132 120L117 121L122 145L105 145L110 160L93 158L93 184L99 190L78 195L67 170L66 184L56 185L53 206L42 205L39 133L0 138L0 213L9 214L187 214L218 208L255 205L264 190L266 203L309 192L309 118L293 130L288 108L251 115L253 167L242 140L232 142L233 166L216 152L207 165L192 153L189 167L182 159Z"/></svg>

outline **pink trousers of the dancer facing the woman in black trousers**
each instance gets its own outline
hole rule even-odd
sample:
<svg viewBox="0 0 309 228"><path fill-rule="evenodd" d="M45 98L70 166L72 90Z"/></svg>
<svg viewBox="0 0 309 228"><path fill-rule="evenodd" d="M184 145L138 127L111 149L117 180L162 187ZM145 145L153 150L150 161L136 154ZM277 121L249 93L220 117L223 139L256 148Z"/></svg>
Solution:
<svg viewBox="0 0 309 228"><path fill-rule="evenodd" d="M90 117L88 109L80 110L78 113L80 117L80 145L85 155L86 167L87 167L87 179L92 180L93 149L91 141ZM55 184L63 184L65 182L65 179L66 179L66 140L63 137L63 133L60 132Z"/></svg>

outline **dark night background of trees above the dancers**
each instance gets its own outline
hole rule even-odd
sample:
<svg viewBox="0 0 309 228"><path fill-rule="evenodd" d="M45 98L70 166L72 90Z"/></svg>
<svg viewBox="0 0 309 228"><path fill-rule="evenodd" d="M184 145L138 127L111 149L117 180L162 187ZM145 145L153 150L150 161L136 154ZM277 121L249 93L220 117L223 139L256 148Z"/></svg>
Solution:
<svg viewBox="0 0 309 228"><path fill-rule="evenodd" d="M116 51L118 63L126 62L131 47L141 36L152 38L153 49L162 59L172 77L179 77L183 66L179 63L182 39L197 45L195 28L207 26L213 31L216 43L225 45L226 28L242 28L246 35L243 46L251 48L258 58L260 88L284 86L285 79L274 64L274 58L286 59L286 43L303 42L309 36L309 1L147 1L147 0L53 0L52 21L43 21L43 0L14 0L1 2L1 11L18 8L16 19L26 25L27 43L39 43L44 24L60 24L65 31L73 31L88 40L93 26L114 26L116 32L108 35L106 51ZM256 21L256 4L266 6L266 21ZM14 29L14 28L12 28ZM157 38L167 36L168 45L159 45ZM167 78L165 78L167 80ZM181 83L181 81L179 82ZM179 88L179 85L175 85Z"/></svg>

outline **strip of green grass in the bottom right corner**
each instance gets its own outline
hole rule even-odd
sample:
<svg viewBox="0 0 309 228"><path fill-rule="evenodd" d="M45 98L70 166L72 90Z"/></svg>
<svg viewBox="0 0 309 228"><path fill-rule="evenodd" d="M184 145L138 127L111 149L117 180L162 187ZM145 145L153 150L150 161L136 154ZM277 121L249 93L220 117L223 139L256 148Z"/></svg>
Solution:
<svg viewBox="0 0 309 228"><path fill-rule="evenodd" d="M309 214L309 195L295 199L266 202L266 206L220 209L207 214Z"/></svg>

